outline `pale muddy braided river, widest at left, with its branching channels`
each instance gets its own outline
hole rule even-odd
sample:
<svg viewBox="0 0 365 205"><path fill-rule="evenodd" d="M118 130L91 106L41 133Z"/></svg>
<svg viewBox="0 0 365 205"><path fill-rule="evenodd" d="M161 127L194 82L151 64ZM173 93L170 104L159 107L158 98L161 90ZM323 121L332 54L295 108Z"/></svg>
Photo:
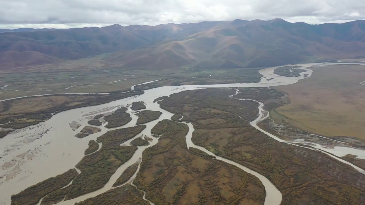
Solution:
<svg viewBox="0 0 365 205"><path fill-rule="evenodd" d="M311 66L311 64L299 65L303 66L302 69L306 69ZM161 96L169 96L170 94L178 93L183 90L194 90L203 88L267 87L276 85L288 85L296 83L298 80L303 79L304 74L308 74L309 77L312 73L312 70L307 69L306 72L301 73L300 77L282 77L273 74L273 70L275 68L276 67L271 67L260 70L260 73L264 77L262 77L261 82L258 83L165 86L160 88L154 88L146 90L145 93L140 96L117 100L103 105L84 107L61 112L54 115L50 120L44 123L20 129L19 131L12 133L0 140L0 150L3 151L0 154L0 161L4 163L0 170L0 176L3 177L0 178L0 204L10 204L10 196L12 194L19 193L20 191L31 185L34 185L49 177L54 177L57 174L62 174L68 169L72 169L75 167L75 165L84 156L84 151L88 147L89 140L96 140L98 136L105 134L108 130L111 130L105 128L104 124L104 126L101 126L101 132L89 135L82 139L75 138L74 135L78 133L79 129L82 129L82 127L87 125L88 118L86 116L90 113L111 112L115 111L120 106L127 107L132 102L144 101L147 109L153 111L161 111L163 113L160 116L160 119L146 123L147 128L142 132L142 134L149 136L153 139L153 141L150 142L149 145L153 146L155 143L157 143L158 139L151 136L151 128L158 121L162 119L170 119L170 117L172 116L172 113L162 110L157 103L153 103L153 100L155 98ZM273 79L267 81L266 79L269 78ZM132 86L131 89L133 90L134 86ZM119 128L135 126L137 118L134 115L134 111L128 109L127 112L131 113L132 121ZM263 113L265 112L266 111L260 110L260 115L264 115ZM258 121L260 121L262 118L264 117L261 116ZM69 127L69 123L74 120L81 124L81 127L75 131L73 131ZM253 122L252 125L254 126L257 122ZM191 130L189 131L190 135L187 136L187 144L188 146L192 147L195 146L191 142L191 133L193 131L193 127L191 124L189 125L189 127L191 128ZM139 136L140 135L136 136L136 138ZM105 185L102 189L78 197L74 200L61 202L60 204L74 204L74 202L83 201L86 198L96 196L111 189L111 186L120 176L120 174L128 166L137 162L141 158L142 151L145 148L146 147L138 147L138 150L135 152L132 159L122 165L111 177L107 185ZM207 152L208 154L212 154L204 148L196 148L199 148ZM255 173L252 170L249 170L247 167L243 167L242 165L234 163L230 160L226 160L223 158L219 158L219 160L231 163L251 174L254 174L262 181L265 186L265 204L280 204L281 194L268 179L258 173Z"/></svg>

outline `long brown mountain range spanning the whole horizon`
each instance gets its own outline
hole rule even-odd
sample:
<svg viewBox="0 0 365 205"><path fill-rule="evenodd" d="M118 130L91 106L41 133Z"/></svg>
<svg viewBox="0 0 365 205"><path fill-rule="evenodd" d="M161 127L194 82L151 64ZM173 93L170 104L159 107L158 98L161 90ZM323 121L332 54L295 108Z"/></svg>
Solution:
<svg viewBox="0 0 365 205"><path fill-rule="evenodd" d="M9 32L10 31L10 32ZM365 20L283 19L0 31L1 69L104 55L126 69L265 67L365 58Z"/></svg>

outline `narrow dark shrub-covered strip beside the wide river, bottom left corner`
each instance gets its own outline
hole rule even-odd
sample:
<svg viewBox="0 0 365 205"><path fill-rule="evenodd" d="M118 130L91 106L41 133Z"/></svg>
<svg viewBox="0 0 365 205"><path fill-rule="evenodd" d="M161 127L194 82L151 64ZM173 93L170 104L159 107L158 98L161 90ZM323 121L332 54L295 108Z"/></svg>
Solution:
<svg viewBox="0 0 365 205"><path fill-rule="evenodd" d="M61 189L77 176L76 169L70 169L63 174L51 177L36 185L30 186L19 194L11 196L12 205L34 205L47 194Z"/></svg>

